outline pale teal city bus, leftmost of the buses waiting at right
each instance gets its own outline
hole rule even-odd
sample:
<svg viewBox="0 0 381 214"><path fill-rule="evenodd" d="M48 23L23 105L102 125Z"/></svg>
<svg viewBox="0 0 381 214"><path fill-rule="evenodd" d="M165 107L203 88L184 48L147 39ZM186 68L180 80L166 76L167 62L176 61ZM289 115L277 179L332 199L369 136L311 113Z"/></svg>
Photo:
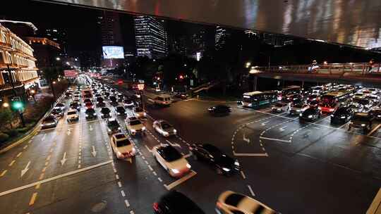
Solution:
<svg viewBox="0 0 381 214"><path fill-rule="evenodd" d="M243 94L243 107L258 108L276 103L278 101L277 96L277 91L247 92Z"/></svg>

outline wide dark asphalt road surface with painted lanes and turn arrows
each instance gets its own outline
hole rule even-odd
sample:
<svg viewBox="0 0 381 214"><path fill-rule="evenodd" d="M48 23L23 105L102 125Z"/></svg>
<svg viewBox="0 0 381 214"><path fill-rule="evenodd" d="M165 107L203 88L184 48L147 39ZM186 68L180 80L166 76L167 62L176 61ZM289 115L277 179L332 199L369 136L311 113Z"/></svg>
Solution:
<svg viewBox="0 0 381 214"><path fill-rule="evenodd" d="M364 135L329 125L327 116L299 122L236 103L227 103L231 115L212 117L206 110L215 104L189 99L168 108L147 105L147 134L131 137L138 151L131 161L112 153L98 109L97 120L86 120L83 111L78 122L62 118L56 128L1 154L1 212L145 214L168 189L183 192L205 213L215 213L217 196L228 189L281 213L366 212L381 186L381 132ZM178 135L157 134L157 119L173 124ZM174 179L157 164L150 150L161 143L188 158L191 174ZM238 158L242 171L217 175L188 155L193 143L218 146Z"/></svg>

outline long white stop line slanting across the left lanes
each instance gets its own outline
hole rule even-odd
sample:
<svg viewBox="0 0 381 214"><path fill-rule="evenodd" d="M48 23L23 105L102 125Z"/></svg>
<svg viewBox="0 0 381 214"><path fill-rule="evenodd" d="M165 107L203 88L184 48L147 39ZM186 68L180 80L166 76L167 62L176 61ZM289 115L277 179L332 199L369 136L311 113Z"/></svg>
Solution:
<svg viewBox="0 0 381 214"><path fill-rule="evenodd" d="M33 182L33 183L31 183L31 184L26 184L26 185L24 185L24 186L22 186L22 187L16 187L16 188L14 188L14 189L9 189L9 190L7 190L7 191L0 192L0 196L5 196L5 195L7 195L7 194L11 194L11 193L13 193L13 192L15 192L15 191L20 191L20 190L23 190L23 189L28 189L28 188L30 188L30 187L34 187L34 186L36 186L37 184L44 184L44 183L46 183L46 182L51 182L51 181L54 181L54 180L58 180L58 179L63 178L63 177L68 177L68 176L70 176L70 175L75 175L75 174L78 174L78 173L80 173L80 172L85 172L85 171L87 171L87 170L92 170L92 169L94 169L94 168L98 168L98 167L100 167L100 166L102 166L102 165L107 165L107 164L109 164L109 163L111 163L111 162L112 162L112 160L108 160L108 161L103 162L103 163L98 163L98 164L95 164L95 165L90 165L90 166L87 167L87 168L82 168L82 169L80 169L80 170L74 170L74 171L71 171L71 172L66 172L66 173L64 173L64 174L57 175L57 176L54 176L54 177L50 177L50 178L45 179L45 180L41 180L41 181L38 181L38 182Z"/></svg>

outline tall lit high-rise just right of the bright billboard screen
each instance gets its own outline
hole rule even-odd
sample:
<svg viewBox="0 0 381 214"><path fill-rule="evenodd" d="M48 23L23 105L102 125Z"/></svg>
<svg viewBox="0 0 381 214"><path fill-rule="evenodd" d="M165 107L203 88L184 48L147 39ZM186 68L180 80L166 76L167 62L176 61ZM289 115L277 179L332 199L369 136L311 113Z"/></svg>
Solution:
<svg viewBox="0 0 381 214"><path fill-rule="evenodd" d="M137 56L161 58L167 56L167 32L161 21L150 16L136 16L135 42Z"/></svg>

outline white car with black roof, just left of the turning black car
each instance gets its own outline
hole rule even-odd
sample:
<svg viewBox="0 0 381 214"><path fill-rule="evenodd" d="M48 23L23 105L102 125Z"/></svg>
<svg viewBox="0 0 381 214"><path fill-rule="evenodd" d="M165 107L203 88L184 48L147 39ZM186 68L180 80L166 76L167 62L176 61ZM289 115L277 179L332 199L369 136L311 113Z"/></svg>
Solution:
<svg viewBox="0 0 381 214"><path fill-rule="evenodd" d="M188 163L179 151L174 149L169 144L161 144L152 149L152 154L157 162L167 170L172 177L181 177L191 170L191 165Z"/></svg>

